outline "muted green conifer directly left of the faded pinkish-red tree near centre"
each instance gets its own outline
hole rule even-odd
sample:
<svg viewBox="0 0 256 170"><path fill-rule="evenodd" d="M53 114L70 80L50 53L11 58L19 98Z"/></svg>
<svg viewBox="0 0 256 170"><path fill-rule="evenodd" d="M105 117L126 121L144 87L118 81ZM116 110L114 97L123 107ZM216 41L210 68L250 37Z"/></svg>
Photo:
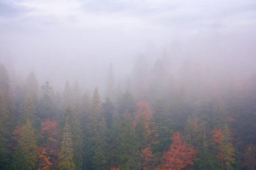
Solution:
<svg viewBox="0 0 256 170"><path fill-rule="evenodd" d="M111 138L111 164L123 170L139 169L139 141L136 138L131 114L124 114L121 120L115 120Z"/></svg>

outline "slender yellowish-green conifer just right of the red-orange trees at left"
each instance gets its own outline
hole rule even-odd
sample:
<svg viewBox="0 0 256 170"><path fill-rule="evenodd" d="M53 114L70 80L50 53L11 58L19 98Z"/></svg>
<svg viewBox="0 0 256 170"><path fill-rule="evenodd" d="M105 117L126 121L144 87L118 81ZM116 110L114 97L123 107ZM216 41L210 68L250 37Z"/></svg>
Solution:
<svg viewBox="0 0 256 170"><path fill-rule="evenodd" d="M71 108L67 108L65 115L65 126L63 128L63 136L61 141L61 153L59 155L59 169L60 170L75 170L75 163L73 161L73 141L70 125Z"/></svg>

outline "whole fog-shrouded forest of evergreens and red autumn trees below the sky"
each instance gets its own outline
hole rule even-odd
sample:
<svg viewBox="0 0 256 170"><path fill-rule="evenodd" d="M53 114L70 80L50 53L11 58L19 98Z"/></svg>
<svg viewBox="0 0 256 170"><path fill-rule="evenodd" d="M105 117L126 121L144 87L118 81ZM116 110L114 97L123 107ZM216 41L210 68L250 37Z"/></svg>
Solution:
<svg viewBox="0 0 256 170"><path fill-rule="evenodd" d="M54 89L0 65L0 169L256 169L256 77L166 57L102 93L79 80Z"/></svg>

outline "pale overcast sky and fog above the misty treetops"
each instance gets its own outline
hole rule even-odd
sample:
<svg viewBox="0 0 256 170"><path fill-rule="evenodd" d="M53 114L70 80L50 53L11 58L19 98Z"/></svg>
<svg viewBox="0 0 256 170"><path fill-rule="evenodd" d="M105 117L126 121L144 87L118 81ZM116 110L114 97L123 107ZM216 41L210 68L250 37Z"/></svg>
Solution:
<svg viewBox="0 0 256 170"><path fill-rule="evenodd" d="M0 1L0 62L50 81L97 82L110 62L127 75L136 54L164 50L172 60L226 54L247 65L255 46L255 0Z"/></svg>

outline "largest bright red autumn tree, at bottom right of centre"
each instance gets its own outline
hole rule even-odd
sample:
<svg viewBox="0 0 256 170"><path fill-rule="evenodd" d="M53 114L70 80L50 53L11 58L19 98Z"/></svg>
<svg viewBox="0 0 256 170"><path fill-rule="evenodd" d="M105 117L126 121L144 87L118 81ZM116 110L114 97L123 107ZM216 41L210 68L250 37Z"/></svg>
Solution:
<svg viewBox="0 0 256 170"><path fill-rule="evenodd" d="M195 148L181 140L181 133L175 132L172 136L172 145L162 157L162 165L158 170L181 170L194 164Z"/></svg>

